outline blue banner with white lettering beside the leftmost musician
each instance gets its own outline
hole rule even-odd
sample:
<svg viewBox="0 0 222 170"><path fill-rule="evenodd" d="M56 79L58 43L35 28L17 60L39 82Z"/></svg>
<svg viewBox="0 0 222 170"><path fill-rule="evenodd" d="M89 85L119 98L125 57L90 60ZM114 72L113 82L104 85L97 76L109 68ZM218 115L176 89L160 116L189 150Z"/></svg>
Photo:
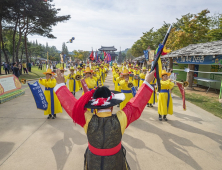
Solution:
<svg viewBox="0 0 222 170"><path fill-rule="evenodd" d="M35 103L38 109L47 110L48 102L46 101L45 95L40 87L39 83L36 81L33 84L29 84L29 88L32 92L32 95L35 99Z"/></svg>

